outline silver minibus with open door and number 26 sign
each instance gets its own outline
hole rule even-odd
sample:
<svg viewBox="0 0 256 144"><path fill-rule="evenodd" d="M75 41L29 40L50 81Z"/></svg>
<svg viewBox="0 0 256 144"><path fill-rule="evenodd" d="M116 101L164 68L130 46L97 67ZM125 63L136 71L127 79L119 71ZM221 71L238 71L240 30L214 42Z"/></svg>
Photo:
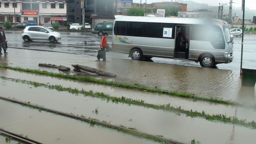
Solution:
<svg viewBox="0 0 256 144"><path fill-rule="evenodd" d="M116 15L112 50L133 60L152 57L200 62L202 67L233 60L233 36L219 19Z"/></svg>

